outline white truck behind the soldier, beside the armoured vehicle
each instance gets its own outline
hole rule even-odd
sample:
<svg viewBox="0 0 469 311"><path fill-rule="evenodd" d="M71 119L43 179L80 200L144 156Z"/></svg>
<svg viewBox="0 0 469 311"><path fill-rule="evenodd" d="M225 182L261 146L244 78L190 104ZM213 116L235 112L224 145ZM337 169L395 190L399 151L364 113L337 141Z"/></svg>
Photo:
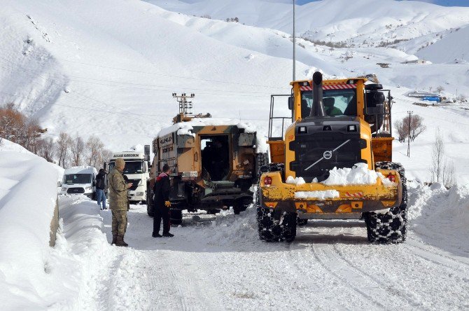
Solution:
<svg viewBox="0 0 469 311"><path fill-rule="evenodd" d="M132 183L128 192L130 202L146 201L146 181L150 178L150 146L145 146L145 151L120 151L114 152L109 160L109 171L116 166L116 159L123 158L125 160L125 168L123 174ZM109 198L109 197L108 197Z"/></svg>

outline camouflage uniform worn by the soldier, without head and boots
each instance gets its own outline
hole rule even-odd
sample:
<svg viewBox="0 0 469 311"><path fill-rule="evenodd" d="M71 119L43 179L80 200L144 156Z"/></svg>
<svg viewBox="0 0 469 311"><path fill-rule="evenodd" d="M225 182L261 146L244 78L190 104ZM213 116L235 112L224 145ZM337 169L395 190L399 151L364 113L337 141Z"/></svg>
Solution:
<svg viewBox="0 0 469 311"><path fill-rule="evenodd" d="M123 174L116 168L109 173L109 200L113 214L113 236L123 236L127 230L127 184Z"/></svg>

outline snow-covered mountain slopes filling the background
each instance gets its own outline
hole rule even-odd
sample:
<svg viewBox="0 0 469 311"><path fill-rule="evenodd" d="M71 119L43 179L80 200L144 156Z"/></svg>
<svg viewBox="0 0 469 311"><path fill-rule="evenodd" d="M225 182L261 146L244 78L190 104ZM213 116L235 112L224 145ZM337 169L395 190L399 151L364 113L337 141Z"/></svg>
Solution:
<svg viewBox="0 0 469 311"><path fill-rule="evenodd" d="M177 112L173 92L195 92L195 112L241 118L265 134L269 95L289 92L291 6L261 0L149 2L3 1L1 102L18 104L50 135L98 134L114 150L150 144ZM394 120L412 110L428 127L414 142L412 158L396 143L395 160L427 180L440 127L465 181L465 106L414 106L405 94L442 86L444 96L469 95L469 65L463 61L469 55L468 13L393 0L298 6L297 36L309 41L297 41L296 77L311 78L316 70L326 77L377 74L396 99ZM225 22L235 17L239 22ZM461 62L451 62L459 54ZM418 57L433 64L401 64Z"/></svg>

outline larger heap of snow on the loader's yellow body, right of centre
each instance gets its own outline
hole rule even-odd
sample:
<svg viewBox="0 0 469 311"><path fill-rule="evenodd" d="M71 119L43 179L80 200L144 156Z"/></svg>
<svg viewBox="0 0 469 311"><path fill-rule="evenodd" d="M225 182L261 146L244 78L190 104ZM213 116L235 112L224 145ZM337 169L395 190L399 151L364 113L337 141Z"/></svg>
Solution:
<svg viewBox="0 0 469 311"><path fill-rule="evenodd" d="M346 185L374 185L380 178L384 186L392 186L394 183L383 176L383 174L368 170L366 163L356 163L352 168L344 167L337 169L334 167L329 171L329 178L321 181L327 186L346 186Z"/></svg>

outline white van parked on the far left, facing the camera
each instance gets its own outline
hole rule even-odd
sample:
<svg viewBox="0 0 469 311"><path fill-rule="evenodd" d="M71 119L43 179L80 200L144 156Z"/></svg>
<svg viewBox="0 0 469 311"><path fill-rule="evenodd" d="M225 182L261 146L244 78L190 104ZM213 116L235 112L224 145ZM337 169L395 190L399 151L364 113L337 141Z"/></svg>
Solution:
<svg viewBox="0 0 469 311"><path fill-rule="evenodd" d="M92 166L69 167L64 172L60 194L84 194L92 200L96 200L96 187L94 179L98 172Z"/></svg>

